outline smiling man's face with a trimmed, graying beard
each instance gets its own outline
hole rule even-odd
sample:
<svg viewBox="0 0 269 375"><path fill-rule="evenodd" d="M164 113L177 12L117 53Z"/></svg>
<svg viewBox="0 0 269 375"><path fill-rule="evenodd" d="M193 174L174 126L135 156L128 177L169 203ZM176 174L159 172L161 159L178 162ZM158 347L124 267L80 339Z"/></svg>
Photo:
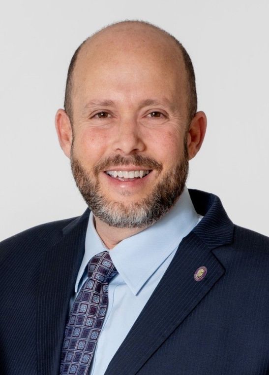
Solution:
<svg viewBox="0 0 269 375"><path fill-rule="evenodd" d="M150 225L173 206L187 175L184 69L180 75L159 46L91 50L74 75L74 177L100 220Z"/></svg>

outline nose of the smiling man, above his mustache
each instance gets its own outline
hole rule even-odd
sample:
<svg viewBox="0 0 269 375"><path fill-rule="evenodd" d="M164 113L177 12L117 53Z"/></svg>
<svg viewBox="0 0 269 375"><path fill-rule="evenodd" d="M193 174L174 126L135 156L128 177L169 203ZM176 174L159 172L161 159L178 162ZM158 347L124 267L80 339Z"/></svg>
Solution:
<svg viewBox="0 0 269 375"><path fill-rule="evenodd" d="M116 131L117 134L115 134L113 142L115 152L128 155L145 150L145 140L135 119L121 120Z"/></svg>

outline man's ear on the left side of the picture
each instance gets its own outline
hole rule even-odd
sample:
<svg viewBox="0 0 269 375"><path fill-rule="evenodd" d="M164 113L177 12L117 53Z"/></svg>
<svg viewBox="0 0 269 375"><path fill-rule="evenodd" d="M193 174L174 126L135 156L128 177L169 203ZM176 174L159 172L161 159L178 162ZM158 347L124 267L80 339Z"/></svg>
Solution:
<svg viewBox="0 0 269 375"><path fill-rule="evenodd" d="M73 132L69 117L64 110L58 110L55 116L55 127L58 134L60 147L70 159Z"/></svg>

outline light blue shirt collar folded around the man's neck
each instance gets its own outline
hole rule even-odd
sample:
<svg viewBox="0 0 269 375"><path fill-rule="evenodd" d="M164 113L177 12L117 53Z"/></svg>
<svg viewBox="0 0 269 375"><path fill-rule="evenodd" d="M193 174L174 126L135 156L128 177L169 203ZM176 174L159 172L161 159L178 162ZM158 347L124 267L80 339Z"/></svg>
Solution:
<svg viewBox="0 0 269 375"><path fill-rule="evenodd" d="M199 221L187 188L169 212L155 224L125 238L112 250L110 256L120 276L136 295L149 277L179 246ZM107 250L98 236L93 215L90 213L86 233L85 254L78 273L75 292L89 260L97 253Z"/></svg>

